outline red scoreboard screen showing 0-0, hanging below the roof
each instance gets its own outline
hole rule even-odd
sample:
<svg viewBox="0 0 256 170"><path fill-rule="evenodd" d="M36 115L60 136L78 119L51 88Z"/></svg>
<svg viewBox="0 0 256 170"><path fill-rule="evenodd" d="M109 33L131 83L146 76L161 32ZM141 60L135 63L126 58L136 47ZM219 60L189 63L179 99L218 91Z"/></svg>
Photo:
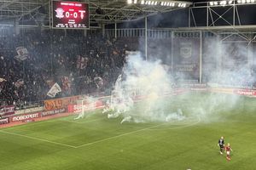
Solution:
<svg viewBox="0 0 256 170"><path fill-rule="evenodd" d="M89 3L52 1L52 27L89 29Z"/></svg>

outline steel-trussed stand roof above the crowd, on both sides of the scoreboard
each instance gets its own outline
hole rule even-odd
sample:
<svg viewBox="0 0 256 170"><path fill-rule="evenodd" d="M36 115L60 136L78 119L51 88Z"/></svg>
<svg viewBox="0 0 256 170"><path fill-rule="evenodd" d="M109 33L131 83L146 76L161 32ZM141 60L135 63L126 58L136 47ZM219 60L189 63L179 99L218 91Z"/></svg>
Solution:
<svg viewBox="0 0 256 170"><path fill-rule="evenodd" d="M73 0L69 0L73 1ZM177 0L77 0L90 3L90 23L114 23L188 7ZM50 0L0 0L0 20L18 18L49 24ZM181 4L185 4L182 6ZM46 24L47 25L47 24Z"/></svg>

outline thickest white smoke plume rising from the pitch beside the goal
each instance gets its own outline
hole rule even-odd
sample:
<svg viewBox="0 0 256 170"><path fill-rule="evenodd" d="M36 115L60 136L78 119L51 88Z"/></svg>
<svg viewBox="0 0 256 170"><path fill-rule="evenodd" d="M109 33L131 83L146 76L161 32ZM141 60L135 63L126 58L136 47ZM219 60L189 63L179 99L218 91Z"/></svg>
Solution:
<svg viewBox="0 0 256 170"><path fill-rule="evenodd" d="M170 122L185 118L179 109L166 111L166 99L163 95L172 92L172 78L166 72L160 60L147 61L140 53L129 54L127 64L115 83L111 101L108 105L108 118L122 116L122 122ZM143 99L137 111L136 97ZM121 123L122 123L121 122Z"/></svg>

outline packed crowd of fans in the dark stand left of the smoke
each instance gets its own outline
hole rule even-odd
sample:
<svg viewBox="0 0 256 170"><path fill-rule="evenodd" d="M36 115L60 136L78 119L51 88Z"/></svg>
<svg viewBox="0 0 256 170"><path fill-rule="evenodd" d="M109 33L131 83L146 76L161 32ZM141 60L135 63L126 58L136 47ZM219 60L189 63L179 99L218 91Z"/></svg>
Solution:
<svg viewBox="0 0 256 170"><path fill-rule="evenodd" d="M16 59L16 48L27 59ZM125 64L125 42L83 31L29 31L3 37L0 44L0 105L28 104L55 97L102 92L113 86Z"/></svg>

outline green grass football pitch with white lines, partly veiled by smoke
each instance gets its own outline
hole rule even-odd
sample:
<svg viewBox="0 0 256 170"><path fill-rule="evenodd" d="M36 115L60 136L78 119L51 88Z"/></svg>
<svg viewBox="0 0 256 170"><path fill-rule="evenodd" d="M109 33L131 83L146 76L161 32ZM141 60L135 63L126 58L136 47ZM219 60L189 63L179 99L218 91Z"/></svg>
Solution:
<svg viewBox="0 0 256 170"><path fill-rule="evenodd" d="M201 93L166 98L166 111L180 108L188 117L177 122L120 124L121 118L94 111L79 120L68 116L2 128L0 169L256 169L256 99L235 98ZM218 152L220 136L233 149L231 161Z"/></svg>

